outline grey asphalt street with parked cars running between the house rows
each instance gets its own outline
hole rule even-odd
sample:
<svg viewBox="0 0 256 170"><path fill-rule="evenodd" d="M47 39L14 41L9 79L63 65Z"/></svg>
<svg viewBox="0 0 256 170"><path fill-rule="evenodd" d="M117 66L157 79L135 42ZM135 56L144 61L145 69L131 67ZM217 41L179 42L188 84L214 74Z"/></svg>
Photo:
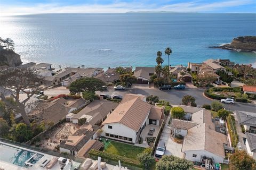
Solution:
<svg viewBox="0 0 256 170"><path fill-rule="evenodd" d="M155 88L129 88L126 90L114 90L113 88L108 88L107 91L97 91L97 94L118 94L124 96L127 93L131 94L141 94L141 95L154 95L158 96L161 100L169 101L172 105L181 104L181 99L185 95L191 95L195 97L196 104L202 106L204 104L211 104L213 100L205 98L203 96L203 88L186 88L185 90L159 90ZM57 96L60 94L69 94L68 89L49 89L44 91L45 95L48 96ZM235 104L225 104L225 108L229 111L246 111L246 112L255 112L256 105L249 103L235 103Z"/></svg>

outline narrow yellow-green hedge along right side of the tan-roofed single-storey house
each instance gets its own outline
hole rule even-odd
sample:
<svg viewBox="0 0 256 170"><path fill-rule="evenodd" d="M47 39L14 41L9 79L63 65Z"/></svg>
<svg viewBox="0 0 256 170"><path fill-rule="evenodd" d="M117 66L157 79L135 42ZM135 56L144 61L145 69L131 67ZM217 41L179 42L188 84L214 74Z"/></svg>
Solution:
<svg viewBox="0 0 256 170"><path fill-rule="evenodd" d="M236 131L235 117L233 115L230 115L230 114L228 115L227 127L228 127L228 133L230 134L232 147L235 148L238 143L238 134Z"/></svg>

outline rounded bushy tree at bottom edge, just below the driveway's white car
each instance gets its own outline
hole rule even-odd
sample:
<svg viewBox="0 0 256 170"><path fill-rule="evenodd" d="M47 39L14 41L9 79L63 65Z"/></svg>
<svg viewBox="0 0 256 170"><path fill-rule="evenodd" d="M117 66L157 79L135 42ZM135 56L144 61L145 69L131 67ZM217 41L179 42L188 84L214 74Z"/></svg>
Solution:
<svg viewBox="0 0 256 170"><path fill-rule="evenodd" d="M157 163L157 170L188 170L193 169L194 164L189 160L175 157L173 155L164 155Z"/></svg>

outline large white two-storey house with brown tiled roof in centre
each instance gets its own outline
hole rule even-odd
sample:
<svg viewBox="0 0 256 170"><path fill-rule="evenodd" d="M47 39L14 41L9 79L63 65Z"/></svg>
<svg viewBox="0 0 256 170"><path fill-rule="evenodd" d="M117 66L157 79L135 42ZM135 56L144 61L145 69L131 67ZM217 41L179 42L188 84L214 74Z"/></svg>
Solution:
<svg viewBox="0 0 256 170"><path fill-rule="evenodd" d="M162 121L163 108L148 104L146 96L126 94L102 123L102 135L110 139L139 143L143 129L146 130L147 126L157 128Z"/></svg>

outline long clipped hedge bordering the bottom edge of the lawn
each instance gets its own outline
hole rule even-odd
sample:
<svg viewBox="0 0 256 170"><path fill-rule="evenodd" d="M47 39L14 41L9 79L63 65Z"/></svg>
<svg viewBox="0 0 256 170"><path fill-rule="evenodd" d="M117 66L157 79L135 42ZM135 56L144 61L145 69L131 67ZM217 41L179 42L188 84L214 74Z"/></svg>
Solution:
<svg viewBox="0 0 256 170"><path fill-rule="evenodd" d="M120 155L109 154L107 152L102 152L102 151L99 151L99 150L94 150L94 149L90 150L89 156L91 158L93 158L93 157L98 158L98 156L99 156L101 158L105 158L105 159L108 159L108 160L113 160L115 162L118 162L118 160L120 160L121 163L123 163L123 164L127 164L127 165L142 168L142 166L140 165L139 160L126 158L126 157L123 157L123 156L120 156Z"/></svg>

